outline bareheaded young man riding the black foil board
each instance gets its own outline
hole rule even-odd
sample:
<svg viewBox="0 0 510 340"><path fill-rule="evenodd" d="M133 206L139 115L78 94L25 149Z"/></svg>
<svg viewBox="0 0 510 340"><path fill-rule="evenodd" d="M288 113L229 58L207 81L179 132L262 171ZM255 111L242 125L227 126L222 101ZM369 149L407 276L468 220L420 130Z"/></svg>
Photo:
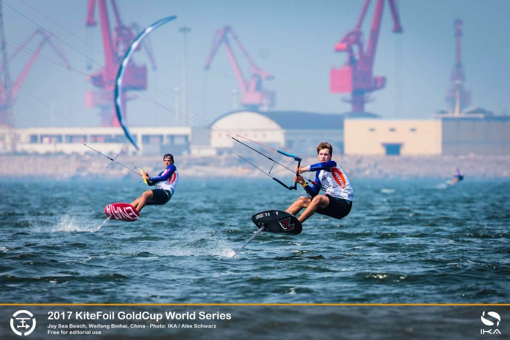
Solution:
<svg viewBox="0 0 510 340"><path fill-rule="evenodd" d="M287 213L296 215L305 208L298 217L299 222L304 222L314 213L341 219L350 213L354 190L350 185L349 178L342 167L335 161L331 161L333 146L327 142L317 146L317 158L320 163L308 167L296 167L296 172L315 171L315 183L312 186L300 175L294 176L294 181L303 186L310 197L301 196L294 201L286 210ZM320 189L325 191L319 195Z"/></svg>

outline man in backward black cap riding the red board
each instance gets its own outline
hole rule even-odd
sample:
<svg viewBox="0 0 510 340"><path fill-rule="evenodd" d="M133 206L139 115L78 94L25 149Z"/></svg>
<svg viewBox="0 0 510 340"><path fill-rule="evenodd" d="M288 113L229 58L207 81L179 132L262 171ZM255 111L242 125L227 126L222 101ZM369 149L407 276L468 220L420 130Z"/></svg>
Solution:
<svg viewBox="0 0 510 340"><path fill-rule="evenodd" d="M172 195L179 180L179 172L173 164L173 155L167 153L163 156L165 170L161 171L158 176L150 177L147 172L142 172L142 178L149 186L156 186L156 189L145 191L142 196L138 197L131 203L138 212L145 205L162 205L172 198Z"/></svg>

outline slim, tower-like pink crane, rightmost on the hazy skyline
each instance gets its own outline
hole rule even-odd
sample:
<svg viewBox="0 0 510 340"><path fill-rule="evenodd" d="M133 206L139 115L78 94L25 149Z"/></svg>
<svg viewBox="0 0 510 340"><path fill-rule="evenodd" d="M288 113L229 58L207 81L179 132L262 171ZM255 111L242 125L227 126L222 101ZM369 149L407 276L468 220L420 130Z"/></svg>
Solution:
<svg viewBox="0 0 510 340"><path fill-rule="evenodd" d="M464 88L464 66L461 59L462 20L456 19L453 28L455 29L455 65L450 75L451 87L446 94L446 102L449 109L458 115L471 103L471 92Z"/></svg>

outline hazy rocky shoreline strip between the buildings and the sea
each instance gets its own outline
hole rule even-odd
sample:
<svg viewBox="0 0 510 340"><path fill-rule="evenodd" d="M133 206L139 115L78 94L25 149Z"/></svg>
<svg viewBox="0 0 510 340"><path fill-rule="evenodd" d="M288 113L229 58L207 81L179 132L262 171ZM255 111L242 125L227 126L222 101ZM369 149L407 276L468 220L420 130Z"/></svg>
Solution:
<svg viewBox="0 0 510 340"><path fill-rule="evenodd" d="M466 178L510 178L510 156L508 155L467 155L467 156L334 156L349 178L452 178L454 168L460 168ZM136 173L142 168L149 174L162 170L160 156L128 157L119 156L118 161L132 167ZM123 168L97 155L85 154L3 154L0 155L0 178L121 178L135 176ZM316 158L303 159L301 164L317 163ZM136 164L136 166L135 166ZM282 162L290 169L296 165ZM259 164L269 171L272 162ZM198 157L177 156L176 166L183 177L266 177L262 172L239 159L236 155ZM267 168L267 169L266 169ZM285 168L275 166L271 175L289 175Z"/></svg>

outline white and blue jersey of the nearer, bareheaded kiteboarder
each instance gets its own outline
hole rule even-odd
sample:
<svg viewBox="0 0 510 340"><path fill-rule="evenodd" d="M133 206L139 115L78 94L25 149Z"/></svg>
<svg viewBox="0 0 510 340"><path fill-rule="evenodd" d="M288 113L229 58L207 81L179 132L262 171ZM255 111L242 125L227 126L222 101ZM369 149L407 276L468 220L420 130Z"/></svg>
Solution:
<svg viewBox="0 0 510 340"><path fill-rule="evenodd" d="M331 197L343 198L352 201L354 198L354 189L350 185L349 178L341 166L335 161L312 164L308 171L315 171L316 184L304 187L304 190L314 197L319 194L322 188L326 195Z"/></svg>

